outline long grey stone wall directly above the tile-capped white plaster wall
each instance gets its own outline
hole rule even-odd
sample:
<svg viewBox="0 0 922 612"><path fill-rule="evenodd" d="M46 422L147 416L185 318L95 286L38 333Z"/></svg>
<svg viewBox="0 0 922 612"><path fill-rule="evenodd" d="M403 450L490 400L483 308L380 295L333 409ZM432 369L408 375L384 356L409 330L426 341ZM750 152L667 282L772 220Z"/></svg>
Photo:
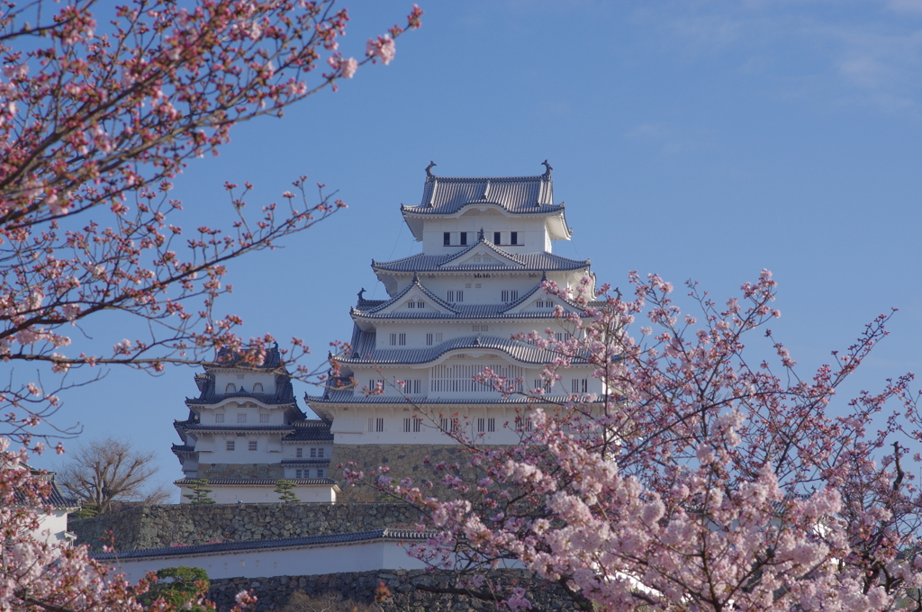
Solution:
<svg viewBox="0 0 922 612"><path fill-rule="evenodd" d="M77 544L99 550L112 531L116 550L170 547L173 544L349 534L381 527L407 527L419 512L402 503L323 504L176 504L136 506L82 521L67 529Z"/></svg>

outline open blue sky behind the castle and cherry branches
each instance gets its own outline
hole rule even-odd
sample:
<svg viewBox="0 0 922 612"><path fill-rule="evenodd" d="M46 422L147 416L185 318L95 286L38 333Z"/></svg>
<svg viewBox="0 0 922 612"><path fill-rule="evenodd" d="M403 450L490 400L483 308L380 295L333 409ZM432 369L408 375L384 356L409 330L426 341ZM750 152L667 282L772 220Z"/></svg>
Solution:
<svg viewBox="0 0 922 612"><path fill-rule="evenodd" d="M358 56L411 3L345 6L341 50ZM783 312L773 329L804 373L891 307L892 335L847 391L922 372L922 1L420 6L423 28L391 65L238 126L176 182L190 228L229 224L225 181L253 182L257 205L307 174L349 204L231 265L219 311L242 315L246 335L301 336L319 364L349 339L356 292L384 297L372 258L418 252L398 208L420 198L430 160L437 174L497 176L549 159L574 231L555 252L591 257L601 281L656 272L724 300L768 268ZM128 329L88 333L110 347ZM187 414L193 374L112 371L65 394L55 423L159 451L171 481L171 422Z"/></svg>

